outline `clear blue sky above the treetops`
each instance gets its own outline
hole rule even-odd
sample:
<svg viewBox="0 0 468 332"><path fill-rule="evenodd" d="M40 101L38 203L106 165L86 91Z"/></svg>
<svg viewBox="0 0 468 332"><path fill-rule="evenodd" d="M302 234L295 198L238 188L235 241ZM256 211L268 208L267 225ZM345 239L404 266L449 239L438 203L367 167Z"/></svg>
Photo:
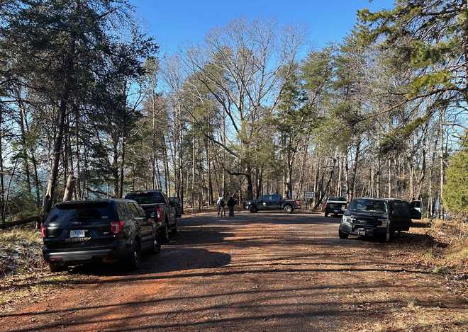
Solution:
<svg viewBox="0 0 468 332"><path fill-rule="evenodd" d="M390 8L393 0L130 0L160 52L172 54L181 45L201 42L211 28L233 18L275 19L279 24L301 25L311 47L340 42L356 22L361 8Z"/></svg>

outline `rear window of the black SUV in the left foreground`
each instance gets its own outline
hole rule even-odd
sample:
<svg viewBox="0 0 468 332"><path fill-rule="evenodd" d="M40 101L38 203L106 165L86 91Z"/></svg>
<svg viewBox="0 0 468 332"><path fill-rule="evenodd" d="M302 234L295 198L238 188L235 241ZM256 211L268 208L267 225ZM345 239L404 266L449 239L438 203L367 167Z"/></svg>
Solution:
<svg viewBox="0 0 468 332"><path fill-rule="evenodd" d="M56 205L50 212L47 222L69 224L76 220L111 220L115 218L110 202L86 202Z"/></svg>

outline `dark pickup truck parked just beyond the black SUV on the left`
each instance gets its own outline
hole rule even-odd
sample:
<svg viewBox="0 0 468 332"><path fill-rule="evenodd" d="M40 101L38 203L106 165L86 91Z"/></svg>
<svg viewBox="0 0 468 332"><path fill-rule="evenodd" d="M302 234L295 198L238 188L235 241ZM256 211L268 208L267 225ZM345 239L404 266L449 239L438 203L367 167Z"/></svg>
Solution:
<svg viewBox="0 0 468 332"><path fill-rule="evenodd" d="M176 207L169 202L165 193L161 190L147 190L128 193L127 200L135 200L145 210L147 217L155 217L157 222L162 223L162 241L170 240L169 234L177 234L177 212Z"/></svg>

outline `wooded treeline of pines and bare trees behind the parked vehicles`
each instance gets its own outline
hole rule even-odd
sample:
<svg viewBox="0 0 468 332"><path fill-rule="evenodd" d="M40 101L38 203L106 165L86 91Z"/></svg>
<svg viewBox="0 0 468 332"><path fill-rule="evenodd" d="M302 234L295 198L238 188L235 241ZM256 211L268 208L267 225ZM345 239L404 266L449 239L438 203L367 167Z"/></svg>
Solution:
<svg viewBox="0 0 468 332"><path fill-rule="evenodd" d="M239 19L160 58L125 0L2 1L1 219L47 213L67 182L74 199L312 191L316 208L420 198L440 216L467 135L467 15L396 1L310 52L301 30Z"/></svg>

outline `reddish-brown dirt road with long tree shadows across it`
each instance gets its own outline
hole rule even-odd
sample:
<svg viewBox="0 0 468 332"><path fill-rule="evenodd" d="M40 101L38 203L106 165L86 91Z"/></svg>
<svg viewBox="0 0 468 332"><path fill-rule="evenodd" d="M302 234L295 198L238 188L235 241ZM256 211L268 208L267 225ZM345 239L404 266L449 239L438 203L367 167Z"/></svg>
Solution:
<svg viewBox="0 0 468 332"><path fill-rule="evenodd" d="M138 273L79 269L85 277L61 292L0 314L0 330L467 330L466 294L410 265L411 248L340 240L338 224L297 213L186 217Z"/></svg>

